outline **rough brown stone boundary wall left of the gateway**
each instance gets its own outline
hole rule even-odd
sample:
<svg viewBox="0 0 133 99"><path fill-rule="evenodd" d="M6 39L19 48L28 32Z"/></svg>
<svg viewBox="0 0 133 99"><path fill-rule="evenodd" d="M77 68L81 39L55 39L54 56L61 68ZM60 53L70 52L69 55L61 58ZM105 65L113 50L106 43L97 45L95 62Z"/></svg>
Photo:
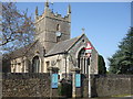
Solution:
<svg viewBox="0 0 133 99"><path fill-rule="evenodd" d="M50 97L50 74L2 74L2 97Z"/></svg>

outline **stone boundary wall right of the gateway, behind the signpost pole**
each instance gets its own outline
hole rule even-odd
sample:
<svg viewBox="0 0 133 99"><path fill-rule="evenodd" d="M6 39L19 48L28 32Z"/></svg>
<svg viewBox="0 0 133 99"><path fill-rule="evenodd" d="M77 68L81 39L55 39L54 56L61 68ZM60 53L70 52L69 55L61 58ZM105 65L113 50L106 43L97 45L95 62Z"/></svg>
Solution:
<svg viewBox="0 0 133 99"><path fill-rule="evenodd" d="M82 75L82 96L88 97L88 75ZM133 95L133 75L91 75L92 97Z"/></svg>

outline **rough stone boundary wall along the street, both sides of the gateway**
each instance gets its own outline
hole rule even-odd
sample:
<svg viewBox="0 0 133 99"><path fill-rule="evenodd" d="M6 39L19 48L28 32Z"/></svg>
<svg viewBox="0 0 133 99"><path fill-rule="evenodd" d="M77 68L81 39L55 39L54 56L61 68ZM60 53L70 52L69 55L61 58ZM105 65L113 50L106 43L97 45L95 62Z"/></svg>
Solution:
<svg viewBox="0 0 133 99"><path fill-rule="evenodd" d="M76 97L88 97L88 75L81 76L81 88ZM133 75L91 75L92 97L115 97L133 95ZM50 74L2 74L3 99L59 97L58 89L52 89ZM16 98L17 97L17 98ZM25 98L27 97L27 98ZM35 98L37 99L37 98Z"/></svg>

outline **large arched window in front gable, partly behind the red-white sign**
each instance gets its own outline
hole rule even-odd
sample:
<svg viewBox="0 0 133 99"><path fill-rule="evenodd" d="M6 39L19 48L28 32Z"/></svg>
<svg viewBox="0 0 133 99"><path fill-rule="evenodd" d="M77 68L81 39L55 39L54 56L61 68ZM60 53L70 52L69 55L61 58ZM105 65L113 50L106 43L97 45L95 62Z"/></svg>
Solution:
<svg viewBox="0 0 133 99"><path fill-rule="evenodd" d="M85 50L82 48L78 55L78 67L81 69L82 74L89 73L88 58L85 57Z"/></svg>

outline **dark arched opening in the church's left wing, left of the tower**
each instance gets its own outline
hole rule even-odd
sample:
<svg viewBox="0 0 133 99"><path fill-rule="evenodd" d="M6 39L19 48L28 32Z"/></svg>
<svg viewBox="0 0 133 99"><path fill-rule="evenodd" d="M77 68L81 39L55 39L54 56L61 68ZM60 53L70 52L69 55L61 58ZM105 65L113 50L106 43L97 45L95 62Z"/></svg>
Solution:
<svg viewBox="0 0 133 99"><path fill-rule="evenodd" d="M35 56L32 59L32 73L39 73L39 69L40 69L40 61L39 61L39 56Z"/></svg>

